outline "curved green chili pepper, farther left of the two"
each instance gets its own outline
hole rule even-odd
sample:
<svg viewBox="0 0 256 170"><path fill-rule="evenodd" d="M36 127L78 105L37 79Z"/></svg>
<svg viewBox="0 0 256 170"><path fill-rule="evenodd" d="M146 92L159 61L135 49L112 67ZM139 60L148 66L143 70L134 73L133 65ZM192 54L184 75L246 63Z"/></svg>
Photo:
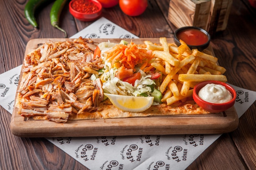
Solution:
<svg viewBox="0 0 256 170"><path fill-rule="evenodd" d="M27 4L25 5L25 17L27 18L29 24L34 26L35 28L38 27L38 24L36 22L36 18L34 16L35 10L43 3L47 2L49 0L29 0Z"/></svg>

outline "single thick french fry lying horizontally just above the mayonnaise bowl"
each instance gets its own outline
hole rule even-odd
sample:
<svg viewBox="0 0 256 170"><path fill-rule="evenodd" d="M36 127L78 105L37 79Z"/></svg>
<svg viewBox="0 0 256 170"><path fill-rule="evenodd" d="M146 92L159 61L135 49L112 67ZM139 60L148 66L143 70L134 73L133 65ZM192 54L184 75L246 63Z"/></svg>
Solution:
<svg viewBox="0 0 256 170"><path fill-rule="evenodd" d="M207 80L227 82L227 77L225 75L180 74L179 80L182 82L203 82Z"/></svg>

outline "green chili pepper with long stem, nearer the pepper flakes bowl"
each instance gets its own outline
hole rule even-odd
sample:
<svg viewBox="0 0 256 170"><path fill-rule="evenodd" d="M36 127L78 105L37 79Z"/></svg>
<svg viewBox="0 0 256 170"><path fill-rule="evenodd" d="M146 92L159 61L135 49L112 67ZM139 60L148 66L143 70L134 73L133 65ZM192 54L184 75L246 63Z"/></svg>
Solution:
<svg viewBox="0 0 256 170"><path fill-rule="evenodd" d="M67 0L56 0L54 4L52 5L52 9L50 12L50 18L51 18L51 24L55 28L61 30L63 33L65 33L65 38L67 37L67 33L65 30L61 29L58 24L59 24L59 18L61 15L61 11L66 4Z"/></svg>

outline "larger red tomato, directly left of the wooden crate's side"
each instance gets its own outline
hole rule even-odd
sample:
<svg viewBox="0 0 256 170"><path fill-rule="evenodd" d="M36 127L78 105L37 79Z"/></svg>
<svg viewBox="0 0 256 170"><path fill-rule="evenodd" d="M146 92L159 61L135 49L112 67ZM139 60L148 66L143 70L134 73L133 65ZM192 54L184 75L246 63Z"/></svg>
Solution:
<svg viewBox="0 0 256 170"><path fill-rule="evenodd" d="M126 15L138 16L148 7L148 0L119 0L119 6Z"/></svg>

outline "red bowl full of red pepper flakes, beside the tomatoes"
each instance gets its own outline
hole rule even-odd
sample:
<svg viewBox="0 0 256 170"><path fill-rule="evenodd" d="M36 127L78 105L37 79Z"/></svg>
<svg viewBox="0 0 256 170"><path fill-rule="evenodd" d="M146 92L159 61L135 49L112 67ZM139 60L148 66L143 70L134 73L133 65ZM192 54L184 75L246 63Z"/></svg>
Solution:
<svg viewBox="0 0 256 170"><path fill-rule="evenodd" d="M97 0L72 0L69 3L70 13L81 21L93 21L102 12L101 3Z"/></svg>

